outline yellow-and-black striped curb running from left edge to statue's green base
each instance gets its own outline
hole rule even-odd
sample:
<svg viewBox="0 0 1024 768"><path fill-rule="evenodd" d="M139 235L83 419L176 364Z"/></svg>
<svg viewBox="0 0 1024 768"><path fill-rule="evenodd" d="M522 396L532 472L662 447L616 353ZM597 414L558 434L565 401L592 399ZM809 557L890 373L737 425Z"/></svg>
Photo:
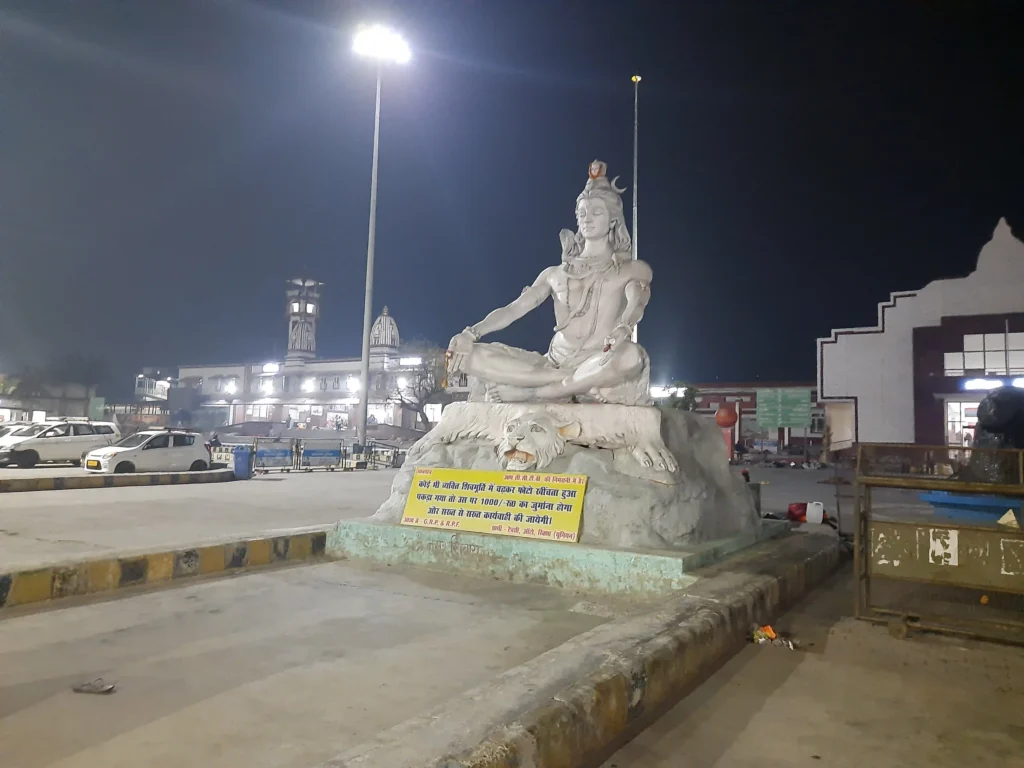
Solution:
<svg viewBox="0 0 1024 768"><path fill-rule="evenodd" d="M128 557L0 572L0 609L113 592L126 587L183 582L243 568L323 557L327 530L307 530Z"/></svg>

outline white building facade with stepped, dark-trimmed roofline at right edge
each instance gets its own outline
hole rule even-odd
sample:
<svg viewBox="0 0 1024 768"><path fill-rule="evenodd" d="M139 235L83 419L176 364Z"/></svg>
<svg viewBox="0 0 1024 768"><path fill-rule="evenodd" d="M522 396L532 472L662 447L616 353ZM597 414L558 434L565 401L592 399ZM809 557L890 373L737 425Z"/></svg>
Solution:
<svg viewBox="0 0 1024 768"><path fill-rule="evenodd" d="M1024 385L1024 243L1000 220L966 278L891 294L871 328L818 340L831 444L970 445L993 387Z"/></svg>

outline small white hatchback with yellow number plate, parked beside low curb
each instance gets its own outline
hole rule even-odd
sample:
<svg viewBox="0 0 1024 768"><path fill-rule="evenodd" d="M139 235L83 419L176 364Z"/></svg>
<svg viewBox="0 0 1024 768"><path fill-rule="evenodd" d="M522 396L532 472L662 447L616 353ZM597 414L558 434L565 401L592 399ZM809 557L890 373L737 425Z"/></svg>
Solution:
<svg viewBox="0 0 1024 768"><path fill-rule="evenodd" d="M85 457L86 472L202 472L210 468L203 435L184 429L146 429Z"/></svg>

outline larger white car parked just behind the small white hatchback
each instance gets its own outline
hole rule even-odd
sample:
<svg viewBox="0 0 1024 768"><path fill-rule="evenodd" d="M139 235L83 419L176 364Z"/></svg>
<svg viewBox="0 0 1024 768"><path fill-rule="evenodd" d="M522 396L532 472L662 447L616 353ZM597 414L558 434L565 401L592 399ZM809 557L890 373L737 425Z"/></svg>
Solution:
<svg viewBox="0 0 1024 768"><path fill-rule="evenodd" d="M41 462L78 464L83 454L121 438L111 422L48 421L32 424L0 437L0 463L30 469Z"/></svg>

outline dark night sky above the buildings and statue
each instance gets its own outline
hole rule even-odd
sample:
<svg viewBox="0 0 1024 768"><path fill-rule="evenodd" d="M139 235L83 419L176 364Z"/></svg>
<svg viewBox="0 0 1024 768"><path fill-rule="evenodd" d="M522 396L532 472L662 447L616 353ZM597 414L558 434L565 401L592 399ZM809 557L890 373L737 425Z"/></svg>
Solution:
<svg viewBox="0 0 1024 768"><path fill-rule="evenodd" d="M559 258L594 158L632 178L654 380L810 380L815 338L1024 234L1014 0L0 1L0 371L280 357L285 281L359 352L376 308L444 344ZM630 193L625 196L627 209ZM983 310L983 307L979 307ZM496 337L543 349L550 304Z"/></svg>

